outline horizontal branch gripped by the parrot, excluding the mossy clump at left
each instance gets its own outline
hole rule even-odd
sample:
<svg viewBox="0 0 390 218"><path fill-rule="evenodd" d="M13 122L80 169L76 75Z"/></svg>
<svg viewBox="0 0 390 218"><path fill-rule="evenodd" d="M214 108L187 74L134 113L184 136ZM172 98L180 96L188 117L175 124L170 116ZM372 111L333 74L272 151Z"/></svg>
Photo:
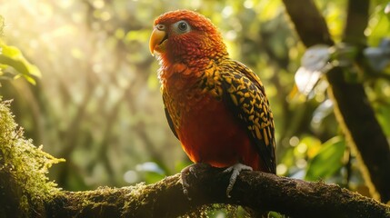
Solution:
<svg viewBox="0 0 390 218"><path fill-rule="evenodd" d="M310 183L270 173L243 172L232 197L229 174L202 164L188 174L189 201L180 175L149 185L88 192L64 192L46 203L48 217L176 217L209 203L229 203L295 217L390 217L390 207L335 184Z"/></svg>

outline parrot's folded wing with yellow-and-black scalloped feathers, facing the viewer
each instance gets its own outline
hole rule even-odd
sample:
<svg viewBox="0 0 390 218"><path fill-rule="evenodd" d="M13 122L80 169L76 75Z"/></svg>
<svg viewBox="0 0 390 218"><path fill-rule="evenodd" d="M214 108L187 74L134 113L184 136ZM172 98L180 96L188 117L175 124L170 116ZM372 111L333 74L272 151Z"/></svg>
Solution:
<svg viewBox="0 0 390 218"><path fill-rule="evenodd" d="M275 173L274 118L263 84L244 64L225 60L219 65L226 105L246 127L265 168L270 173Z"/></svg>

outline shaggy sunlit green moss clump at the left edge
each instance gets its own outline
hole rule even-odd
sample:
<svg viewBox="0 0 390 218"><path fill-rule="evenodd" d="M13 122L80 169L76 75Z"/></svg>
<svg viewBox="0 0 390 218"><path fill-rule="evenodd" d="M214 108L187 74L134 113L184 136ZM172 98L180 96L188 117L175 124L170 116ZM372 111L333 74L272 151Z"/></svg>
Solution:
<svg viewBox="0 0 390 218"><path fill-rule="evenodd" d="M36 217L44 213L44 202L59 193L46 176L54 163L65 161L42 151L23 128L15 124L10 101L0 98L0 216Z"/></svg>

